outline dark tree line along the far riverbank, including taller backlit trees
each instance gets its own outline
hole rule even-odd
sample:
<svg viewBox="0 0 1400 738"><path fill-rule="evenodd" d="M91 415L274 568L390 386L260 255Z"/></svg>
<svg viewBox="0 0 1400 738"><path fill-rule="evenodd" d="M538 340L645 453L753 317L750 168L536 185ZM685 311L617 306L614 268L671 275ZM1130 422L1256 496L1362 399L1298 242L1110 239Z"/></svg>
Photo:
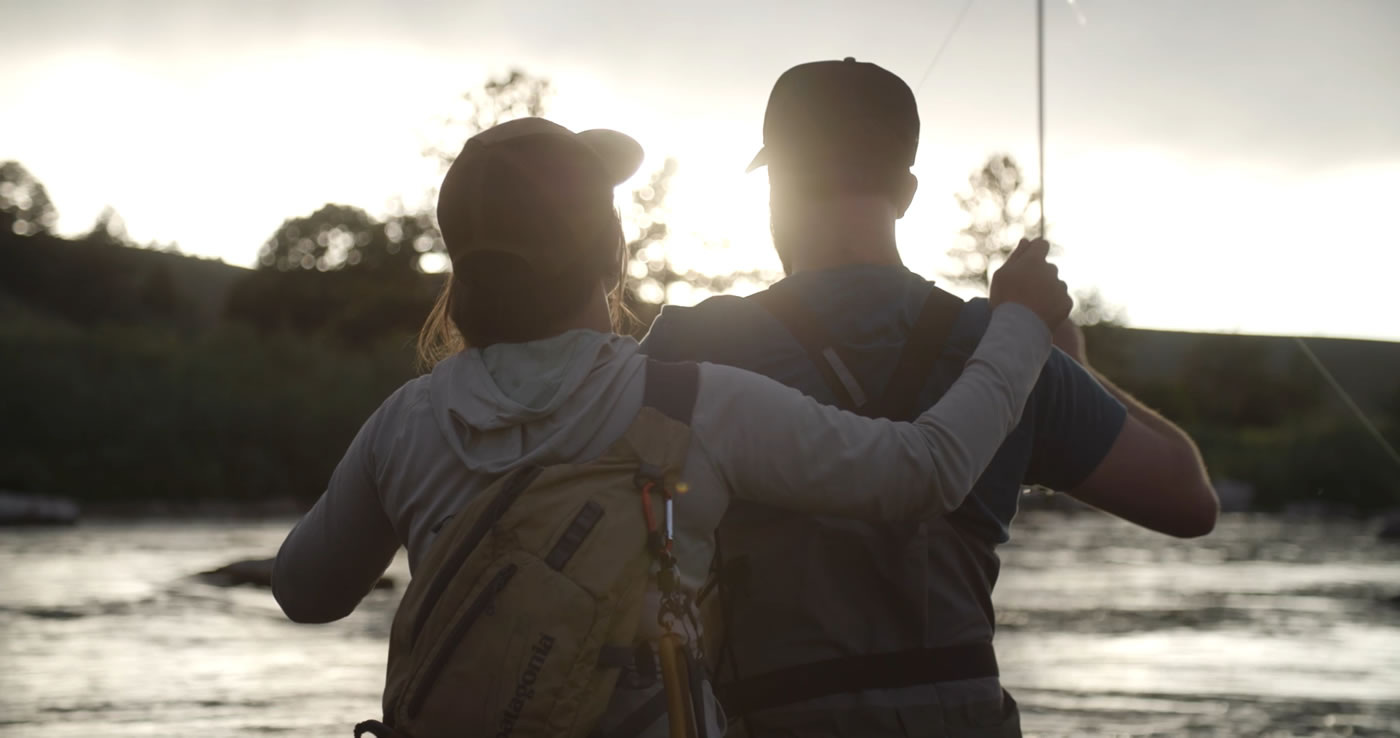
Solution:
<svg viewBox="0 0 1400 738"><path fill-rule="evenodd" d="M549 83L511 71L463 95L451 140L539 115ZM426 154L442 167L455 146ZM673 283L724 291L738 279L665 258L666 160L630 196L634 277L626 304L641 333ZM431 193L424 202L433 202ZM1040 193L995 154L958 193L966 214L945 279L987 284L1032 232ZM412 336L444 276L427 210L382 216L337 203L283 221L252 270L134 248L111 209L90 232L52 232L42 182L0 164L0 489L84 500L253 500L319 494L360 423L412 378ZM1121 325L1096 293L1079 294L1091 360L1200 438L1215 473L1253 483L1263 506L1317 500L1376 508L1400 500L1387 459L1337 412L1301 357L1245 336L1197 336L1175 367L1152 371L1152 336ZM1369 408L1397 441L1393 399Z"/></svg>

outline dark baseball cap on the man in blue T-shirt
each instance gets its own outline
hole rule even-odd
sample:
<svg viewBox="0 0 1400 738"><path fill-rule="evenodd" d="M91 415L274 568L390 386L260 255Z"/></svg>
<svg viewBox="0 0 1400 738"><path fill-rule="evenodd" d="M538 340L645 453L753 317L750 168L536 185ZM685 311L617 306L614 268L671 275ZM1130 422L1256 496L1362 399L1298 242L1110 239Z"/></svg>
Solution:
<svg viewBox="0 0 1400 738"><path fill-rule="evenodd" d="M783 73L763 113L763 148L748 171L795 165L900 167L918 150L914 92L889 70L846 57Z"/></svg>

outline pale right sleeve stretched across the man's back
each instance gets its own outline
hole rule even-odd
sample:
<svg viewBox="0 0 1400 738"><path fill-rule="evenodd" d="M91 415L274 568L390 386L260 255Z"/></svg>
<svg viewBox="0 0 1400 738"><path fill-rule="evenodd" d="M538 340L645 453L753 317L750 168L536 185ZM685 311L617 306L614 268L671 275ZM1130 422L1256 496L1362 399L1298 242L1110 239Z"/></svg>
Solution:
<svg viewBox="0 0 1400 738"><path fill-rule="evenodd" d="M692 433L741 499L867 520L939 515L991 464L1049 356L1044 322L1023 305L1000 305L962 375L914 423L862 417L703 364Z"/></svg>

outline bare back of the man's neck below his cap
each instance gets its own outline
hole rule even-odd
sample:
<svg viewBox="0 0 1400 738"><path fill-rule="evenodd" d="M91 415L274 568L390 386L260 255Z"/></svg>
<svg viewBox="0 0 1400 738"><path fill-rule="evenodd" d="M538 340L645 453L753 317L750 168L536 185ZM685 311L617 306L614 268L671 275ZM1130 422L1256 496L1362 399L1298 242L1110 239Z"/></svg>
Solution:
<svg viewBox="0 0 1400 738"><path fill-rule="evenodd" d="M773 214L773 242L790 274L840 266L897 266L895 211L882 197L840 197Z"/></svg>

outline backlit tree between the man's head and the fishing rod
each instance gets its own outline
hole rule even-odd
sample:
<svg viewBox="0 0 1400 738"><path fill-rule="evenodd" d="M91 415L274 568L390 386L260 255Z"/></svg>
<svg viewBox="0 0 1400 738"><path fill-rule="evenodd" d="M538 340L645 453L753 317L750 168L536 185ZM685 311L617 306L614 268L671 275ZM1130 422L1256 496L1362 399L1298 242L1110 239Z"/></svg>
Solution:
<svg viewBox="0 0 1400 738"><path fill-rule="evenodd" d="M994 154L967 176L967 189L955 195L967 225L948 255L958 270L944 274L955 284L987 290L991 273L1028 234L1036 235L1040 190L1032 189L1009 154Z"/></svg>

